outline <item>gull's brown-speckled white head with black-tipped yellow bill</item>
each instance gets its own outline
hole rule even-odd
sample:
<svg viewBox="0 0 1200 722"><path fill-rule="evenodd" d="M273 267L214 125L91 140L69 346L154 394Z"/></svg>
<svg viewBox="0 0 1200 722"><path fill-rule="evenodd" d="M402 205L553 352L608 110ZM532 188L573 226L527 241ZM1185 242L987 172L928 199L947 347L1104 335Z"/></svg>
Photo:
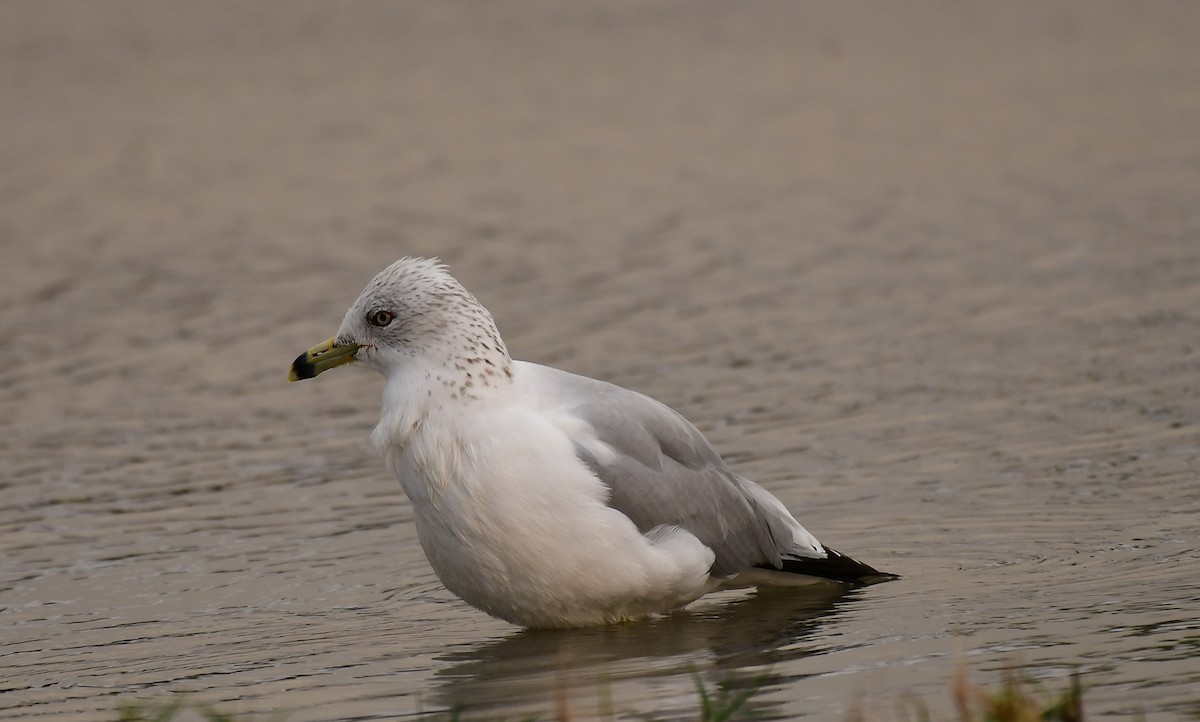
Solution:
<svg viewBox="0 0 1200 722"><path fill-rule="evenodd" d="M371 279L346 312L337 335L292 363L288 380L311 379L344 363L385 377L425 359L472 378L508 373L492 315L438 259L402 258ZM490 372L490 373L488 373Z"/></svg>

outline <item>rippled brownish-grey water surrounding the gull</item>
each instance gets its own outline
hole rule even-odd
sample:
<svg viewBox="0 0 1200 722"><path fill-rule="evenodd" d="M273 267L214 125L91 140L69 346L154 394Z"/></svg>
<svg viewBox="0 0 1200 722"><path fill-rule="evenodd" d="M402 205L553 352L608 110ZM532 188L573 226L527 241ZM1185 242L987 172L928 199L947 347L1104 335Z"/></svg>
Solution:
<svg viewBox="0 0 1200 722"><path fill-rule="evenodd" d="M887 718L1014 664L1194 714L1196 14L6 4L0 716L674 718L698 673ZM283 381L409 253L904 579L556 633L462 604L379 380Z"/></svg>

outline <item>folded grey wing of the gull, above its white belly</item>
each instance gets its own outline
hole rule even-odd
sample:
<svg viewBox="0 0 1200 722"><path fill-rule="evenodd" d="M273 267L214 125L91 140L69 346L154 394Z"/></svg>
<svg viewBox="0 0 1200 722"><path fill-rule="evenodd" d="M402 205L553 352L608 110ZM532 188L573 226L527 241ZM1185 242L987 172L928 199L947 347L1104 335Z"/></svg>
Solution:
<svg viewBox="0 0 1200 722"><path fill-rule="evenodd" d="M728 577L758 565L781 566L793 548L786 510L772 509L751 482L726 468L686 419L647 396L563 371L539 367L564 409L595 429L614 453L576 443L580 459L611 492L610 505L642 533L676 524L716 554L712 573ZM764 494L760 489L760 494Z"/></svg>

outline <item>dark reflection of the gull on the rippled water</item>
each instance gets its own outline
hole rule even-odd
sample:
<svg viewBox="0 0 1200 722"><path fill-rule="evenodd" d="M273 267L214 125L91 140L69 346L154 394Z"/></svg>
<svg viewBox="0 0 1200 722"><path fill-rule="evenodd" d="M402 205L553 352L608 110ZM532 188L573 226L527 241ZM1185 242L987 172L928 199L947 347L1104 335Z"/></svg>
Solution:
<svg viewBox="0 0 1200 722"><path fill-rule="evenodd" d="M696 672L715 672L706 675L715 680L732 675L772 686L781 680L763 669L827 651L815 638L856 596L854 590L833 583L803 591L758 590L661 619L520 631L440 657L450 666L434 675L436 704L492 715L530 706L545 712L557 700L595 697L606 686L636 678L679 678L679 688L690 691ZM737 674L745 668L754 672ZM695 693L690 698L696 702ZM620 700L616 706L623 711Z"/></svg>

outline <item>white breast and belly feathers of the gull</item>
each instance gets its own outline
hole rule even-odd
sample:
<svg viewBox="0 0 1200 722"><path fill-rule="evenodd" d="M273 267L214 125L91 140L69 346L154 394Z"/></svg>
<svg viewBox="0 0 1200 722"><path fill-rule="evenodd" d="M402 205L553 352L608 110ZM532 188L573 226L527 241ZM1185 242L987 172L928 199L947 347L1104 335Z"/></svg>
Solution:
<svg viewBox="0 0 1200 722"><path fill-rule="evenodd" d="M430 564L468 603L528 626L578 626L667 612L712 589L713 552L674 527L638 533L545 416L510 407L410 431L386 446L388 467Z"/></svg>

